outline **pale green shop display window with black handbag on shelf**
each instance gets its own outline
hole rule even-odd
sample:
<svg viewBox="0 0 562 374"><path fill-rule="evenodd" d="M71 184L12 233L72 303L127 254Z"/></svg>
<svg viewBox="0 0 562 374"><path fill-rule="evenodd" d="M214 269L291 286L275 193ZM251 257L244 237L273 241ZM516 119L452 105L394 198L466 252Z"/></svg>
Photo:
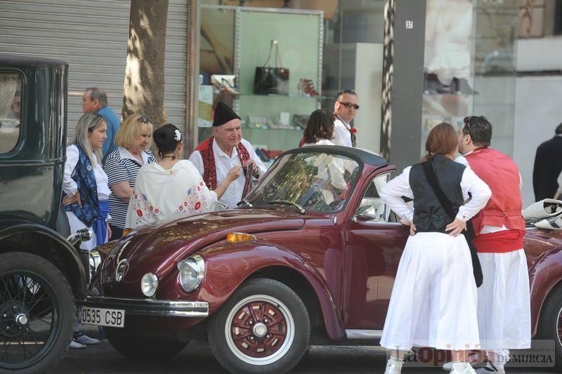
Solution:
<svg viewBox="0 0 562 374"><path fill-rule="evenodd" d="M266 166L299 147L320 107L321 58L320 11L203 5L198 142L212 135L213 110L225 102Z"/></svg>

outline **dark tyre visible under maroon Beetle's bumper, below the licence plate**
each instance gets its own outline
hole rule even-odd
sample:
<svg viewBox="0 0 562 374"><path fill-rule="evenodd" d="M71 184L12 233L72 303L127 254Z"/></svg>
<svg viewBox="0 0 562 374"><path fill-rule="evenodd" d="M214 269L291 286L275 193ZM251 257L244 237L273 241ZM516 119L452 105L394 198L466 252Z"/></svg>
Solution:
<svg viewBox="0 0 562 374"><path fill-rule="evenodd" d="M103 328L107 340L117 352L138 361L159 361L176 356L188 342L173 338L150 338L131 335L121 328Z"/></svg>

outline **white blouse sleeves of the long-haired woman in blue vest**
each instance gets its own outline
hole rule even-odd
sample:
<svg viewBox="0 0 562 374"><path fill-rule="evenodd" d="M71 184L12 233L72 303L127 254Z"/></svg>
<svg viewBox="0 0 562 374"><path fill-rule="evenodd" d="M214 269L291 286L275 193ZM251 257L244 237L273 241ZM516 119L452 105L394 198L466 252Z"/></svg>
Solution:
<svg viewBox="0 0 562 374"><path fill-rule="evenodd" d="M78 191L78 186L76 182L72 179L72 173L74 168L76 168L79 159L79 151L76 145L69 145L66 149L66 162L65 162L65 173L63 175L63 191L68 196L73 196ZM98 189L98 200L107 201L110 198L111 190L107 186L107 174L103 171L101 163L93 155L94 165L93 175L96 177L96 187Z"/></svg>

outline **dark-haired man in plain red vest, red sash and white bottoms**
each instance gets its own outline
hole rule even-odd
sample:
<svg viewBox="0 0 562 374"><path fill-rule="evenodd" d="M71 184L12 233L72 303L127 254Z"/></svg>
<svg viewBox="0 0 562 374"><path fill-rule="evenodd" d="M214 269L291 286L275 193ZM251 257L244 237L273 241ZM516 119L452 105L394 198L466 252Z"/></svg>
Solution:
<svg viewBox="0 0 562 374"><path fill-rule="evenodd" d="M483 272L478 288L478 332L488 363L477 373L505 373L509 349L530 348L530 295L523 252L521 175L514 161L490 148L492 124L467 116L459 134L457 161L470 166L492 190L488 204L472 218Z"/></svg>

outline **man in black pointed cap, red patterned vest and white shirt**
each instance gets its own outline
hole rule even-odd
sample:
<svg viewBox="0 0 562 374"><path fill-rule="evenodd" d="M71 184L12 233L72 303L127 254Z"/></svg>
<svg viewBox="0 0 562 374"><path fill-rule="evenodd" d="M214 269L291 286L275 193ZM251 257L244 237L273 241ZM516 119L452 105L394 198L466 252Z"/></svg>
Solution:
<svg viewBox="0 0 562 374"><path fill-rule="evenodd" d="M267 171L254 147L242 139L240 116L224 102L216 105L213 136L198 145L189 159L203 175L209 189L216 189L226 178L228 171L236 165L246 167L249 163L254 163L254 178L261 177ZM236 204L242 199L243 189L244 178L237 178L223 194L221 201L228 208L236 208Z"/></svg>

